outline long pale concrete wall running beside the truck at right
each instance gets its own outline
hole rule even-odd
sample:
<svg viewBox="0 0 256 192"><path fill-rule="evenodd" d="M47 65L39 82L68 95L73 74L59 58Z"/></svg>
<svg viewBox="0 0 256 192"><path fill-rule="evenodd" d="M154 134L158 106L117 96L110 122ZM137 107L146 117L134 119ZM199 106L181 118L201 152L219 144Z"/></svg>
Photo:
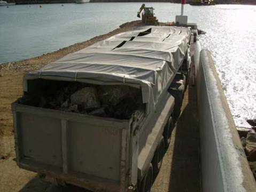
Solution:
<svg viewBox="0 0 256 192"><path fill-rule="evenodd" d="M201 50L196 60L202 191L256 191L211 53Z"/></svg>

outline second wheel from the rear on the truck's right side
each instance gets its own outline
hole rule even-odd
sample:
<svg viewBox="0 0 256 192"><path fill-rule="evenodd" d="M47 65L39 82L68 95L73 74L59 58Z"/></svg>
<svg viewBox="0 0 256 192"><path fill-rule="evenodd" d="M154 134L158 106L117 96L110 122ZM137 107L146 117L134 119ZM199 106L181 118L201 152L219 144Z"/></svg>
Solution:
<svg viewBox="0 0 256 192"><path fill-rule="evenodd" d="M153 172L156 174L160 171L160 168L162 166L162 158L165 154L165 140L164 137L161 137L157 150L154 152L154 157L152 159L153 164Z"/></svg>

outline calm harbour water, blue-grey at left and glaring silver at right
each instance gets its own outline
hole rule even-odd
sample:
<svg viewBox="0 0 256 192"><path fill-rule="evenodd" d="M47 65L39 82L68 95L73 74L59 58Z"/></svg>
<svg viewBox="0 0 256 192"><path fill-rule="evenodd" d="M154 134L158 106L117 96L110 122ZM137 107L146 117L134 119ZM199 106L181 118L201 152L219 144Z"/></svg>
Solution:
<svg viewBox="0 0 256 192"><path fill-rule="evenodd" d="M35 57L136 20L141 3L16 5L0 7L0 62ZM174 21L179 4L146 3L159 21ZM185 5L189 22L206 35L200 40L212 51L237 126L256 118L256 6Z"/></svg>

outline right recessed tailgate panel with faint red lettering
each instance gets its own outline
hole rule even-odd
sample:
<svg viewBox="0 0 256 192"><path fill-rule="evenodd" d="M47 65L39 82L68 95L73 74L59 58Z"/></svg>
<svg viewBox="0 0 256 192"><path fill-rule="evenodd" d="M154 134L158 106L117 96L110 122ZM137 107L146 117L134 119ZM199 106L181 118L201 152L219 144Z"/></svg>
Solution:
<svg viewBox="0 0 256 192"><path fill-rule="evenodd" d="M119 180L121 130L72 121L68 129L70 169Z"/></svg>

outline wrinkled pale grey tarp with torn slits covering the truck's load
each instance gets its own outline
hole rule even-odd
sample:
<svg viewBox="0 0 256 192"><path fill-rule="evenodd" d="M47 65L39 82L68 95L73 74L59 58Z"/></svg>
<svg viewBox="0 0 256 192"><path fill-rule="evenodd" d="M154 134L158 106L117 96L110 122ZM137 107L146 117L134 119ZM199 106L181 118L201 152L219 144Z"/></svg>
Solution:
<svg viewBox="0 0 256 192"><path fill-rule="evenodd" d="M154 107L180 68L190 34L189 28L169 26L120 33L25 74L24 90L27 80L36 78L128 84L141 87L143 102Z"/></svg>

